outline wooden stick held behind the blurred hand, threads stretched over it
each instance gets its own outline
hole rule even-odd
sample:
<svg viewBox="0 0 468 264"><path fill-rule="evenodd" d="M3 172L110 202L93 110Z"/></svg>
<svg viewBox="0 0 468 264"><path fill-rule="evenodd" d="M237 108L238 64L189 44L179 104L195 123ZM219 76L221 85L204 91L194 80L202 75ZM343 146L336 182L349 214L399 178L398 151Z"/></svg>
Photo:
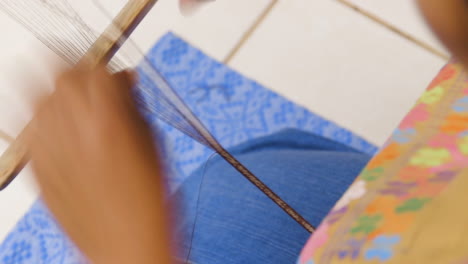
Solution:
<svg viewBox="0 0 468 264"><path fill-rule="evenodd" d="M129 0L79 64L94 68L109 63L156 2L157 0ZM16 140L0 156L0 190L8 186L29 161L28 142L33 140L30 126L26 125Z"/></svg>

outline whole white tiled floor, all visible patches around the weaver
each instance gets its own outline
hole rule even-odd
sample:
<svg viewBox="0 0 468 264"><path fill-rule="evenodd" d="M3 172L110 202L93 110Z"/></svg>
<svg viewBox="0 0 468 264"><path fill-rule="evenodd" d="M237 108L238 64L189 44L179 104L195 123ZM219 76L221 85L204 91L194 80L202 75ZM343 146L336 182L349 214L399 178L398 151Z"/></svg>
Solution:
<svg viewBox="0 0 468 264"><path fill-rule="evenodd" d="M178 13L175 0L161 0L134 39L147 50L172 30L225 60L272 1L217 0L186 18ZM446 52L422 22L413 0L349 2ZM275 3L228 64L377 144L445 63L337 0ZM44 48L1 13L0 25L7 36L0 44L0 130L14 136L31 117L31 98L38 89L28 83L44 73L37 55ZM5 147L0 142L0 150ZM25 170L0 193L0 240L36 199L31 179Z"/></svg>

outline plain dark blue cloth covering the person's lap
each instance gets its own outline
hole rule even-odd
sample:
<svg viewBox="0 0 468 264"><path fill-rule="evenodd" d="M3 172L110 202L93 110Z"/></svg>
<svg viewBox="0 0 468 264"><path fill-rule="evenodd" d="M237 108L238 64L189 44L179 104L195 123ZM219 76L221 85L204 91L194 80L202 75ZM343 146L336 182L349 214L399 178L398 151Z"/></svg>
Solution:
<svg viewBox="0 0 468 264"><path fill-rule="evenodd" d="M297 130L230 151L314 226L370 158ZM176 236L183 238L179 257L190 252L191 263L294 263L310 236L219 157L199 168L173 198L182 209L176 224Z"/></svg>

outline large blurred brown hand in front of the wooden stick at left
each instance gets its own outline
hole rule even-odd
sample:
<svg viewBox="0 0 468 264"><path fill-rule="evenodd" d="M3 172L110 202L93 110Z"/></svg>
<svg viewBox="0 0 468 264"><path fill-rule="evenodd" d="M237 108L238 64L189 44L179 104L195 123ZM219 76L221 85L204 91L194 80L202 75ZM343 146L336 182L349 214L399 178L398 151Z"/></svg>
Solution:
<svg viewBox="0 0 468 264"><path fill-rule="evenodd" d="M45 203L93 263L170 263L161 169L128 73L71 70L32 122Z"/></svg>

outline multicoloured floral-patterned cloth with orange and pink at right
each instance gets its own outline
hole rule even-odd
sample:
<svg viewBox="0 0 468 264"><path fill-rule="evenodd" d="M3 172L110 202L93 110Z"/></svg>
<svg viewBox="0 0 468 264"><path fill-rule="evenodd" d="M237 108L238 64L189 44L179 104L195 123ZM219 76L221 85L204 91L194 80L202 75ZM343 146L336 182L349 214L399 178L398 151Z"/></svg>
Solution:
<svg viewBox="0 0 468 264"><path fill-rule="evenodd" d="M468 74L434 79L298 261L468 263Z"/></svg>

